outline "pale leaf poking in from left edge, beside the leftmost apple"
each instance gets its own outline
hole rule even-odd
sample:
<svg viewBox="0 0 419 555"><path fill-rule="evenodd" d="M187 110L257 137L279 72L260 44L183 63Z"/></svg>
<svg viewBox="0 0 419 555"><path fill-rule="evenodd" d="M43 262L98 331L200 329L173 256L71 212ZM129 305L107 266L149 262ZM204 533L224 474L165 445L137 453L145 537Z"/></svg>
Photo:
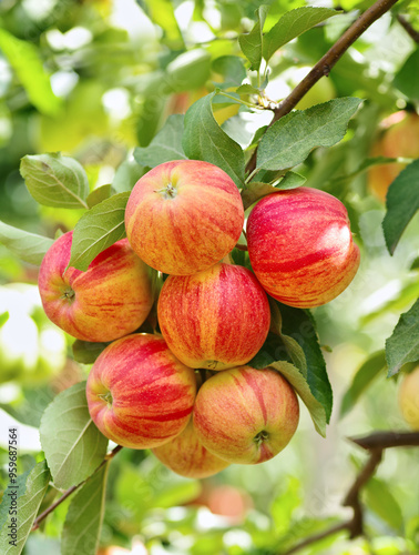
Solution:
<svg viewBox="0 0 419 555"><path fill-rule="evenodd" d="M23 262L39 265L53 240L0 222L0 243Z"/></svg>

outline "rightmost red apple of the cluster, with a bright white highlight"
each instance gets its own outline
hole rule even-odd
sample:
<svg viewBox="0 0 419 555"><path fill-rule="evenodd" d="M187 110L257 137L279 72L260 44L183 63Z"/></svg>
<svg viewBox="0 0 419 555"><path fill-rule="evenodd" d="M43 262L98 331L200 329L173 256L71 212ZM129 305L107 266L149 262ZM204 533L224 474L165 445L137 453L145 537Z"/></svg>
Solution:
<svg viewBox="0 0 419 555"><path fill-rule="evenodd" d="M262 199L247 220L247 246L265 291L302 309L338 296L359 266L346 208L307 186Z"/></svg>

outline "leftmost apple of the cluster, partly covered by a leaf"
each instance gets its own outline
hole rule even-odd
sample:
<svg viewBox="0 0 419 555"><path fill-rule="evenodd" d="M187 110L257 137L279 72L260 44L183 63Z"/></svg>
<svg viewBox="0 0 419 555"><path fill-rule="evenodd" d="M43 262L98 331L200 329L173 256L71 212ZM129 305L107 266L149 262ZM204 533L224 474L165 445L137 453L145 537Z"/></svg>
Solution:
<svg viewBox="0 0 419 555"><path fill-rule="evenodd" d="M49 249L39 272L48 317L70 335L92 342L134 332L153 305L150 269L126 239L101 252L85 272L69 268L73 232Z"/></svg>

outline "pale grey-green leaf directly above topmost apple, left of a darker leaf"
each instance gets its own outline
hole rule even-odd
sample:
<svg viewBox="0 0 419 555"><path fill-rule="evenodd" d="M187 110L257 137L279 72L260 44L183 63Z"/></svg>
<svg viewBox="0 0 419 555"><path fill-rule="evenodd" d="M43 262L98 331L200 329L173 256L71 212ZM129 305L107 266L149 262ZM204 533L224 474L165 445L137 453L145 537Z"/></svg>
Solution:
<svg viewBox="0 0 419 555"><path fill-rule="evenodd" d="M167 118L163 129L155 135L149 147L134 150L139 164L155 168L172 160L186 160L182 148L184 115L176 113Z"/></svg>

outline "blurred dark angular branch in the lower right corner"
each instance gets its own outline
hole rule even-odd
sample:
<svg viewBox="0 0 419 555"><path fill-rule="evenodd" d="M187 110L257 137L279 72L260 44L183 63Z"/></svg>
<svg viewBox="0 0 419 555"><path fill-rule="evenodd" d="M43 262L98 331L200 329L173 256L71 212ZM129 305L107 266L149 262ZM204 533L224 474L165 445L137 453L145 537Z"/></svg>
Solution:
<svg viewBox="0 0 419 555"><path fill-rule="evenodd" d="M352 508L352 517L349 521L335 524L330 528L306 537L294 547L280 555L292 555L325 537L329 537L341 531L348 531L349 537L354 539L364 534L364 509L360 503L360 492L368 481L374 476L378 465L382 461L382 453L390 447L419 447L418 432L375 432L365 437L350 437L352 443L369 452L369 457L356 476L352 485L346 494L343 506Z"/></svg>

